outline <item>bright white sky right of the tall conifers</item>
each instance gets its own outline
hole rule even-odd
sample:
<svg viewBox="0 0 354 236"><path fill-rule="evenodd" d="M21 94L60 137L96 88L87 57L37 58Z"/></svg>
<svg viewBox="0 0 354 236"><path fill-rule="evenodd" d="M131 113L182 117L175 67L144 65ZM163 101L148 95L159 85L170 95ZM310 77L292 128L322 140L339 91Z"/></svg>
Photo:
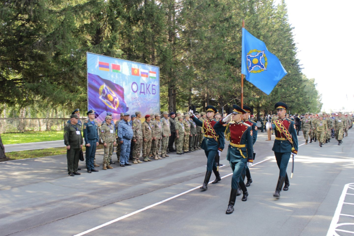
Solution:
<svg viewBox="0 0 354 236"><path fill-rule="evenodd" d="M285 2L302 73L315 79L322 111L354 111L354 0Z"/></svg>

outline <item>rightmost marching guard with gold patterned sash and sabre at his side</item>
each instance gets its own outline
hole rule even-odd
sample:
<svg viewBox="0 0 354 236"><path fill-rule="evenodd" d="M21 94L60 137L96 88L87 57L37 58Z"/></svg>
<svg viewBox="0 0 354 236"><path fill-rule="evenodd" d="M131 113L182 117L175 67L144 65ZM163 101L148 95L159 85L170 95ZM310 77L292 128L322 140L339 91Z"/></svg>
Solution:
<svg viewBox="0 0 354 236"><path fill-rule="evenodd" d="M284 191L289 189L289 178L286 173L287 164L291 155L297 155L298 143L294 121L286 119L287 105L283 102L275 104L275 109L278 113L278 119L272 123L272 129L275 130L275 140L273 151L276 159L276 164L279 167L278 184L276 185L274 197L280 197L281 188L285 182Z"/></svg>

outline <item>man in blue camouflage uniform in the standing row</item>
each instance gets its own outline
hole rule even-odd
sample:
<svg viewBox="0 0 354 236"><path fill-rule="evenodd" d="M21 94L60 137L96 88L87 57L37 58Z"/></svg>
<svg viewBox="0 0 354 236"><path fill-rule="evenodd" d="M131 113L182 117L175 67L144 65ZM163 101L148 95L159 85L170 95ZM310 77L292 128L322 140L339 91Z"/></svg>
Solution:
<svg viewBox="0 0 354 236"><path fill-rule="evenodd" d="M126 114L128 115L128 114ZM131 139L133 138L133 129L131 122L121 120L118 125L118 139L123 141L120 150L120 164L124 165L129 162Z"/></svg>

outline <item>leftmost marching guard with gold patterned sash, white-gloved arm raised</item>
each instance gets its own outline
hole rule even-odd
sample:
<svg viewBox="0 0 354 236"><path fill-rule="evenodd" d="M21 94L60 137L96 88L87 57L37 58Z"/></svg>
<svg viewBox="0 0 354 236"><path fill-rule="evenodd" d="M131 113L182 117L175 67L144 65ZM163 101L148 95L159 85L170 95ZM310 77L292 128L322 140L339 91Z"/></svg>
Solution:
<svg viewBox="0 0 354 236"><path fill-rule="evenodd" d="M204 138L201 143L201 148L204 149L205 155L207 157L207 165L206 165L206 173L204 178L203 186L200 187L202 191L208 189L208 183L211 176L211 171L214 172L216 179L212 182L217 183L221 180L218 166L215 162L215 156L217 154L221 154L224 149L224 133L216 132L214 130L214 125L217 123L217 120L214 119L215 113L217 113L217 109L212 105L206 106L206 119L201 122L198 118L193 114L192 110L189 110L189 115L192 117L193 121L196 125L202 127L202 132L204 133Z"/></svg>

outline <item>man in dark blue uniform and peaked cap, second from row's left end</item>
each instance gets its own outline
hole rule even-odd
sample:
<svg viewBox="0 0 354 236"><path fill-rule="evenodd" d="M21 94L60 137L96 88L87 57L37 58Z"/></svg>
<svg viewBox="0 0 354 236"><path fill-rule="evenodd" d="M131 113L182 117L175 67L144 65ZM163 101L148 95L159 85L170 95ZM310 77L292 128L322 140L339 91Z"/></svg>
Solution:
<svg viewBox="0 0 354 236"><path fill-rule="evenodd" d="M85 138L85 146L86 146L86 167L87 172L98 172L93 166L95 154L96 154L96 146L98 145L98 124L95 120L95 111L89 110L87 111L87 119L84 123L84 138Z"/></svg>

